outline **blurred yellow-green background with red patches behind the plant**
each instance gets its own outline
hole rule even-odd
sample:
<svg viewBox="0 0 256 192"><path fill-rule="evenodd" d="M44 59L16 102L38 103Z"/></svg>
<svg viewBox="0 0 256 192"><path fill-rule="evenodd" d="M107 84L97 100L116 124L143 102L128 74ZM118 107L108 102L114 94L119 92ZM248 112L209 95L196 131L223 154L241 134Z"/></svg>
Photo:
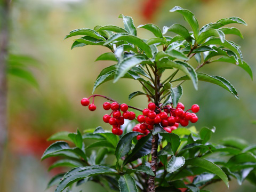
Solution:
<svg viewBox="0 0 256 192"><path fill-rule="evenodd" d="M50 178L61 170L47 172L47 166L54 161L41 162L43 151L51 144L46 139L58 131L91 129L99 125L110 127L101 121L104 111L89 113L79 102L89 97L95 78L103 67L111 62L94 62L105 47L85 46L70 50L72 39L62 41L70 30L93 28L95 25L123 26L118 15L123 13L133 17L135 26L155 23L159 27L181 23L187 26L179 13L170 13L174 6L181 6L195 13L199 27L216 22L221 18L240 17L248 26L237 25L244 39L236 36L227 38L240 44L244 60L255 71L256 44L256 1L254 0L13 0L10 19L9 53L22 55L16 59L32 78L19 78L8 75L9 138L0 175L1 192L54 191L46 189ZM187 26L188 27L188 26ZM138 36L151 37L144 29L138 29ZM224 137L241 137L256 143L256 82L251 81L243 69L228 63L214 63L201 71L210 75L220 75L233 84L239 94L237 100L221 87L199 82L195 91L191 82L183 84L184 94L181 102L185 106L198 103L198 129L202 126L216 126L212 141ZM255 75L254 75L254 78ZM108 95L120 102L144 108L147 99L143 96L128 101L127 95L140 90L139 84L132 80L108 82L95 93ZM101 106L103 100L97 99ZM84 191L105 190L88 182L81 186ZM218 183L210 187L218 191L256 191L256 187L245 182L238 186L231 182L229 190ZM78 189L74 189L78 191Z"/></svg>

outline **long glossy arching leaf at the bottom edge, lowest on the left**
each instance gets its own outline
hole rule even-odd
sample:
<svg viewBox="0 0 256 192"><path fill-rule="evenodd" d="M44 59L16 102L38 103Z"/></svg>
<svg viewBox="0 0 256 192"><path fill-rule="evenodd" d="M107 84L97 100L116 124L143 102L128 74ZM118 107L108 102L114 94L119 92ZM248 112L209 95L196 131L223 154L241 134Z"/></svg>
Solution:
<svg viewBox="0 0 256 192"><path fill-rule="evenodd" d="M116 170L110 169L107 166L101 165L80 167L80 170L78 172L73 172L73 174L69 173L68 175L65 175L55 192L61 192L66 187L70 186L76 181L99 174L117 174L117 172Z"/></svg>

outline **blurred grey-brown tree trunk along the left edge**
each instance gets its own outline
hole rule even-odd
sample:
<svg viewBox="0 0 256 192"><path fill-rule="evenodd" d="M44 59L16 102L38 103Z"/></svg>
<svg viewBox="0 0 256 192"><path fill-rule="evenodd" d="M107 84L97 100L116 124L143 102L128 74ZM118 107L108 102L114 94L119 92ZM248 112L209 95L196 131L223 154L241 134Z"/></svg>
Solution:
<svg viewBox="0 0 256 192"><path fill-rule="evenodd" d="M0 0L0 168L7 142L7 57L9 41L9 8L11 0ZM1 171L0 170L0 171Z"/></svg>

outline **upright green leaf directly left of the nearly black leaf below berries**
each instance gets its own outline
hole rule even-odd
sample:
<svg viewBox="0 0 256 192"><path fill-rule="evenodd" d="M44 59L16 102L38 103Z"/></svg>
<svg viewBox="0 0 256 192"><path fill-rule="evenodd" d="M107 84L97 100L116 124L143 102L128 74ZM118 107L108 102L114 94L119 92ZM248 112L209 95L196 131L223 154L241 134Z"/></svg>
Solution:
<svg viewBox="0 0 256 192"><path fill-rule="evenodd" d="M117 162L118 160L125 156L127 153L129 153L129 151L131 150L132 147L132 139L134 137L136 137L137 135L139 135L141 133L139 132L129 132L126 133L118 142L117 147L116 147L116 159Z"/></svg>

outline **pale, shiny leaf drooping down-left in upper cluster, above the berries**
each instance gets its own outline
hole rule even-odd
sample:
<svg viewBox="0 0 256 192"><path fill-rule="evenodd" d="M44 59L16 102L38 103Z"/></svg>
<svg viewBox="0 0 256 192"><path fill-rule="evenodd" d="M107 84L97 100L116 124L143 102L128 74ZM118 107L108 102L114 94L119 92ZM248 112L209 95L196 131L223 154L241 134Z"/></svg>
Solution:
<svg viewBox="0 0 256 192"><path fill-rule="evenodd" d="M138 55L122 60L116 70L114 83L117 82L119 78L123 77L132 67L137 66L142 61L146 61L146 59Z"/></svg>

